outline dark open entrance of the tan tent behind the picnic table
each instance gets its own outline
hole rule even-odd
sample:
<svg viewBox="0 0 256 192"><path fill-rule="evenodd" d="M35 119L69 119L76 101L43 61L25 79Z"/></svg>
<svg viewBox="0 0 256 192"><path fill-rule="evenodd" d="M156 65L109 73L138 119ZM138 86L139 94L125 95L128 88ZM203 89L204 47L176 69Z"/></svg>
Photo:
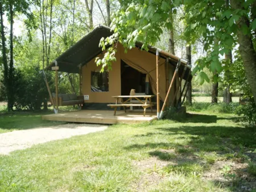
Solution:
<svg viewBox="0 0 256 192"><path fill-rule="evenodd" d="M135 89L136 93L152 94L151 87L148 86L146 74L139 72L121 60L121 95L130 95L131 89Z"/></svg>

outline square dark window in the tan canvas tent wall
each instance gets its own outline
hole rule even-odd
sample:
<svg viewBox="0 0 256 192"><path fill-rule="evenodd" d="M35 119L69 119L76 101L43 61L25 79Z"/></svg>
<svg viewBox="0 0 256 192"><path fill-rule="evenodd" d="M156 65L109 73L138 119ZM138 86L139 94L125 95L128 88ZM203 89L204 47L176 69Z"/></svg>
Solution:
<svg viewBox="0 0 256 192"><path fill-rule="evenodd" d="M90 89L92 92L108 92L109 91L109 73L108 72L92 72Z"/></svg>

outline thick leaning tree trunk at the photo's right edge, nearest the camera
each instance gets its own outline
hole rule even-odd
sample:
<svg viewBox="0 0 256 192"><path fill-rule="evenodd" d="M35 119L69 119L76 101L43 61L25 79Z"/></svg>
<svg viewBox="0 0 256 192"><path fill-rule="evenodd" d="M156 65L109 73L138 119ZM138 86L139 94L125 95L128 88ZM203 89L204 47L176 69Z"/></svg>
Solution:
<svg viewBox="0 0 256 192"><path fill-rule="evenodd" d="M243 9L242 2L238 0L231 0L230 5L233 9ZM247 27L250 26L250 22L245 16L242 16L237 23L239 28L243 25L246 25ZM249 82L251 92L253 93L254 103L256 103L256 53L253 47L253 40L251 39L252 35L244 35L242 31L238 29L237 37L247 80Z"/></svg>

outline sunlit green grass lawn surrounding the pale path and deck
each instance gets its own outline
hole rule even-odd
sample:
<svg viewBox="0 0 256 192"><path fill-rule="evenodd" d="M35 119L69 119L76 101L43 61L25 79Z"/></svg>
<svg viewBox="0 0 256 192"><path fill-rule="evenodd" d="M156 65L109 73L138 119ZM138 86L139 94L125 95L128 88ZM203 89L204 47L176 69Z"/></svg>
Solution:
<svg viewBox="0 0 256 192"><path fill-rule="evenodd" d="M0 191L256 191L256 128L232 118L191 112L0 156Z"/></svg>

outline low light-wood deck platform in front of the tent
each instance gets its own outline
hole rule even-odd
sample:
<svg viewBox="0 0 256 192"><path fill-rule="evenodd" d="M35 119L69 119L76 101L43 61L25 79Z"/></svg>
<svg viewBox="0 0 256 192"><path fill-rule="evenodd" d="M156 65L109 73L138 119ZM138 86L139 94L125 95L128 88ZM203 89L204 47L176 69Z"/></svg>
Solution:
<svg viewBox="0 0 256 192"><path fill-rule="evenodd" d="M59 114L43 115L43 120L77 123L117 124L117 123L142 123L156 119L156 112L150 110L143 116L143 111L114 111L80 110L61 112Z"/></svg>

